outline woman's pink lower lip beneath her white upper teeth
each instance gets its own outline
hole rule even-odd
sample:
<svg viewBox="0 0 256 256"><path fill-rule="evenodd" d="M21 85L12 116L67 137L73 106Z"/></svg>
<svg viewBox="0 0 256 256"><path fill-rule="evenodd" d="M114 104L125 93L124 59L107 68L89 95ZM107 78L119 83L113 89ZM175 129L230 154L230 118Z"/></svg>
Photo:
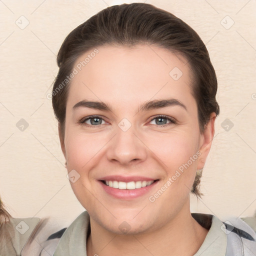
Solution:
<svg viewBox="0 0 256 256"><path fill-rule="evenodd" d="M155 186L155 184L157 182L158 182L158 180L153 182L149 186L144 186L144 187L141 187L141 188L118 189L118 188L113 188L113 187L107 186L102 181L99 181L102 188L108 194L110 194L111 196L113 196L115 198L124 199L124 200L134 199L134 198L137 198L139 196L142 196L142 195L146 194L147 192L149 192Z"/></svg>

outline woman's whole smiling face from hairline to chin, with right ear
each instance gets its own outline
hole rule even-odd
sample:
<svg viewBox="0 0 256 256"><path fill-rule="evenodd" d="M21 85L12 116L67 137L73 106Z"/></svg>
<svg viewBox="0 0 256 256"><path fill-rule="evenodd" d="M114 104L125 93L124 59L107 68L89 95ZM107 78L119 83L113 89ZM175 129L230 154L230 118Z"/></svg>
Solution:
<svg viewBox="0 0 256 256"><path fill-rule="evenodd" d="M108 231L154 230L189 213L214 118L200 134L192 76L181 55L153 45L91 52L74 65L60 139L70 184Z"/></svg>

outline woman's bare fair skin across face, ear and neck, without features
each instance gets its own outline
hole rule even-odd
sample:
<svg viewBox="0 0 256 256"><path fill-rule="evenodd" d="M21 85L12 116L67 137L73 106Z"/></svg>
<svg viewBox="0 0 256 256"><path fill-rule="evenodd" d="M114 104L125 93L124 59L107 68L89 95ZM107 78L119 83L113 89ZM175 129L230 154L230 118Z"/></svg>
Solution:
<svg viewBox="0 0 256 256"><path fill-rule="evenodd" d="M177 80L169 75L174 67L182 71ZM210 149L215 113L201 134L191 79L184 57L156 45L98 47L95 57L72 79L65 133L63 137L59 127L59 137L68 172L75 169L80 175L71 187L90 215L87 255L193 255L202 244L207 230L190 215L189 192ZM179 100L186 109L171 105L138 111L146 101L167 98ZM103 101L112 111L72 109L84 99ZM89 115L102 118L101 124L93 125L93 119L79 122ZM157 115L176 123L168 119L156 123L151 118ZM131 124L126 131L118 126L123 118ZM154 202L149 201L196 152L200 156ZM102 188L98 179L105 175L159 181L146 194L121 200ZM123 221L128 226L125 234L119 228Z"/></svg>

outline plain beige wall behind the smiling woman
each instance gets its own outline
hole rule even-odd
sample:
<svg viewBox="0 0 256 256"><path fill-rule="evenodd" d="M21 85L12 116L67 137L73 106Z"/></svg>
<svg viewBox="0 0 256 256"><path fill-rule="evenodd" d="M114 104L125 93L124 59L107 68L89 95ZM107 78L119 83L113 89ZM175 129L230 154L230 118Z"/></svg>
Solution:
<svg viewBox="0 0 256 256"><path fill-rule="evenodd" d="M0 1L0 195L13 216L53 216L65 225L83 210L66 178L46 95L57 73L55 55L67 33L107 5L122 2L132 1ZM191 211L221 218L253 215L256 1L145 2L192 26L206 43L217 73L220 115L203 171L204 196L198 201L191 196ZM16 126L21 118L28 124L23 131Z"/></svg>

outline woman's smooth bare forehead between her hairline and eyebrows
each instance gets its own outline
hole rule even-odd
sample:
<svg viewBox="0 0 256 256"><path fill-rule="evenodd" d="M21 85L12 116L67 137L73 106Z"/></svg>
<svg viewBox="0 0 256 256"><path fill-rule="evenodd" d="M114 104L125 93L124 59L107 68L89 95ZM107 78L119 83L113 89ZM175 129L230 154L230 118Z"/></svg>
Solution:
<svg viewBox="0 0 256 256"><path fill-rule="evenodd" d="M97 52L97 53L95 53ZM100 46L80 55L73 66L68 101L97 99L134 104L153 98L191 98L187 60L156 45Z"/></svg>

